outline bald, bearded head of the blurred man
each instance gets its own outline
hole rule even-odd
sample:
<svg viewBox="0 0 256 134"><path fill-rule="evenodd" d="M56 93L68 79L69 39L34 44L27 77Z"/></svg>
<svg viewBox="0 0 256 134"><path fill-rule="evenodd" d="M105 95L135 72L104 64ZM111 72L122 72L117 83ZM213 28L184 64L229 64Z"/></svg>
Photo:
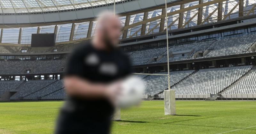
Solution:
<svg viewBox="0 0 256 134"><path fill-rule="evenodd" d="M104 12L98 18L95 27L95 39L104 42L106 47L113 48L117 45L121 35L121 23L118 16Z"/></svg>

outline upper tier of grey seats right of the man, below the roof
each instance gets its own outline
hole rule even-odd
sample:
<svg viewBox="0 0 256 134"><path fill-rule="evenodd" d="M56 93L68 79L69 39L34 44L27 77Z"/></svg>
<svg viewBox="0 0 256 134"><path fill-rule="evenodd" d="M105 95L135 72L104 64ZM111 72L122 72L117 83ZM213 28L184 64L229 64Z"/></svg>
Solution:
<svg viewBox="0 0 256 134"><path fill-rule="evenodd" d="M249 48L256 43L256 34L250 33L236 37L225 37L217 40L195 41L187 44L174 44L169 47L169 61L181 61L195 58L216 57L249 53ZM194 56L198 51L208 51L204 56ZM162 53L164 52L164 53ZM139 50L128 52L133 65L147 64L154 57L158 59L157 63L167 62L166 47ZM182 55L183 54L183 55Z"/></svg>

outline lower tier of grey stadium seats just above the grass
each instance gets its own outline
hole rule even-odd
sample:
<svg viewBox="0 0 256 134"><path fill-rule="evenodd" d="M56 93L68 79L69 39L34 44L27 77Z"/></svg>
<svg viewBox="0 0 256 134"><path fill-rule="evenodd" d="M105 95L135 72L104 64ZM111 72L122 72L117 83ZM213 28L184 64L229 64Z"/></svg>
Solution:
<svg viewBox="0 0 256 134"><path fill-rule="evenodd" d="M199 71L172 71L171 88L176 94L216 94L237 82L235 86L225 90L224 94L256 93L256 71L252 66L201 69ZM166 74L166 72L161 72ZM157 74L161 74L157 73ZM162 94L168 88L167 76L136 75L145 81L144 95ZM240 79L240 81L238 81ZM0 81L1 94L16 89L23 81ZM58 100L65 99L66 93L62 80L28 80L20 86L11 100Z"/></svg>

